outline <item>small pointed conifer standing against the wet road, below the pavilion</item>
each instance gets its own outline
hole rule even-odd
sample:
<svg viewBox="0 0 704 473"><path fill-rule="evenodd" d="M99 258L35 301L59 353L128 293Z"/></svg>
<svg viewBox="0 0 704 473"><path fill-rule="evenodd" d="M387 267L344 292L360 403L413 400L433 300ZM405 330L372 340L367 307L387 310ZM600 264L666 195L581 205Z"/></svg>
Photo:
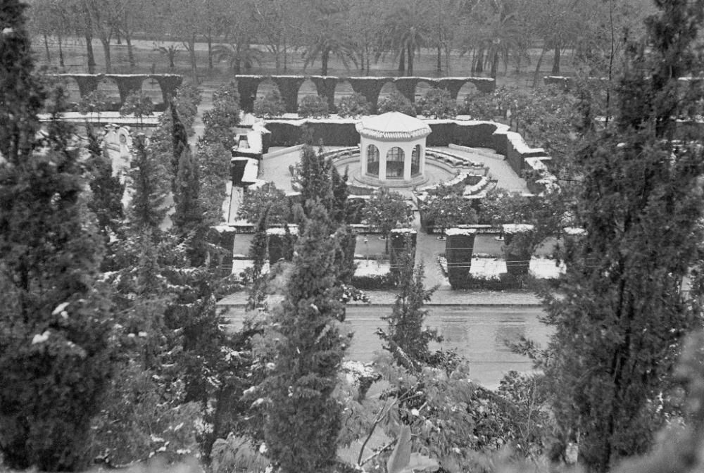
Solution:
<svg viewBox="0 0 704 473"><path fill-rule="evenodd" d="M423 308L437 289L425 289L425 267L414 267L410 253L399 257L398 294L391 315L382 317L389 324L387 332L377 330L377 335L386 342L396 361L408 368L427 364L430 360L428 344L441 341L437 330L423 327L428 310Z"/></svg>

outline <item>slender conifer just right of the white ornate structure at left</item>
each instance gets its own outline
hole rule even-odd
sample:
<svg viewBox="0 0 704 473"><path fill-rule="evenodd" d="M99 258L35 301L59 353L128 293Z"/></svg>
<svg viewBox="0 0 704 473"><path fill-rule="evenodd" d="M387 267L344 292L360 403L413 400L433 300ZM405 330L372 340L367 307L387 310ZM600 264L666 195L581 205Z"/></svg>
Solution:
<svg viewBox="0 0 704 473"><path fill-rule="evenodd" d="M138 229L157 232L168 207L164 205L168 177L163 165L147 151L144 134L134 137L134 158L130 170L132 200L128 215L130 224Z"/></svg>

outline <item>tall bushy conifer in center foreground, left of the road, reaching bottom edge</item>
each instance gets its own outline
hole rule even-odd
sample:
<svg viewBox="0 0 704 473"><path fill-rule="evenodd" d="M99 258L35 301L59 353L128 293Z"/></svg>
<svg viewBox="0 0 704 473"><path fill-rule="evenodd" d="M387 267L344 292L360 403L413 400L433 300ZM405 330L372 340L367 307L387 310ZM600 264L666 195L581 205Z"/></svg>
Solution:
<svg viewBox="0 0 704 473"><path fill-rule="evenodd" d="M265 439L284 473L327 471L337 452L341 406L333 398L348 339L341 336L343 306L333 296L337 241L320 203L296 245L282 309L268 393Z"/></svg>

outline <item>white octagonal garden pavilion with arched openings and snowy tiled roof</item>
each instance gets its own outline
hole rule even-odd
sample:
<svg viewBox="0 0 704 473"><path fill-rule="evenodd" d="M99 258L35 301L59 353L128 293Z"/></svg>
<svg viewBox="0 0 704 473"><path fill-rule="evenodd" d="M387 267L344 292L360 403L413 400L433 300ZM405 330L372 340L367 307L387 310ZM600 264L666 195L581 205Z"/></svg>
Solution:
<svg viewBox="0 0 704 473"><path fill-rule="evenodd" d="M430 127L417 118L388 112L363 118L360 134L361 181L367 184L413 184L425 179L425 139Z"/></svg>

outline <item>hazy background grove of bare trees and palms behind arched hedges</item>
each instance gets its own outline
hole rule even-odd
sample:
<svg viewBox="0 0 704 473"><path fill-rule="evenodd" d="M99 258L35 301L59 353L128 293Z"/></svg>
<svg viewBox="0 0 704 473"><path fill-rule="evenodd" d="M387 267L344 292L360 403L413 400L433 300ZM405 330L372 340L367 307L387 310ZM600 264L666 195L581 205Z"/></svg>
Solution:
<svg viewBox="0 0 704 473"><path fill-rule="evenodd" d="M560 74L565 54L601 75L623 51L622 30L639 30L650 8L646 0L31 0L30 6L30 30L46 60L55 60L49 48L55 42L63 67L62 45L79 38L88 72L97 72L92 39L99 40L104 70L111 72L115 44L124 42L134 67L132 42L146 38L170 69L183 51L194 77L199 67L212 69L218 61L246 72L263 53L277 73L287 71L295 54L322 75L332 58L360 72L385 58L398 64L399 74L413 75L425 49L434 51L436 72L446 75L457 61L494 77L500 68L530 63L536 79L546 56L553 74ZM163 41L175 44L159 45ZM203 64L196 43L207 46Z"/></svg>

